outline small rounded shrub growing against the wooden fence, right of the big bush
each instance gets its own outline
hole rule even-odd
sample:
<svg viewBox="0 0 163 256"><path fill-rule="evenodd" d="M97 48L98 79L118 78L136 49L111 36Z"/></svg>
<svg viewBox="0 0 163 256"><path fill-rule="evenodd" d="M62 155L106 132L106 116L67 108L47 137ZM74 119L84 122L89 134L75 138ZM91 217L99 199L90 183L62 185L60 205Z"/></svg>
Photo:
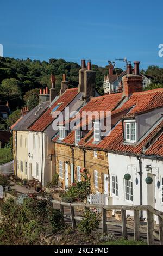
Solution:
<svg viewBox="0 0 163 256"><path fill-rule="evenodd" d="M79 231L89 235L93 230L98 229L100 218L95 212L85 210L83 217L83 220L78 224Z"/></svg>

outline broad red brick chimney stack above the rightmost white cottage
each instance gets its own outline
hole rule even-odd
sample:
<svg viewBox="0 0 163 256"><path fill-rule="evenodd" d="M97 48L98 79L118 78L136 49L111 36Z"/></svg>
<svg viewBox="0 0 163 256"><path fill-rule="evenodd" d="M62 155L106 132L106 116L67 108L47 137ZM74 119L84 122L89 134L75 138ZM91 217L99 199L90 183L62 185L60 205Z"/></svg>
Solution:
<svg viewBox="0 0 163 256"><path fill-rule="evenodd" d="M122 78L123 81L123 94L129 98L135 92L142 92L143 81L142 76L139 74L140 62L134 62L136 65L136 74L127 74Z"/></svg>

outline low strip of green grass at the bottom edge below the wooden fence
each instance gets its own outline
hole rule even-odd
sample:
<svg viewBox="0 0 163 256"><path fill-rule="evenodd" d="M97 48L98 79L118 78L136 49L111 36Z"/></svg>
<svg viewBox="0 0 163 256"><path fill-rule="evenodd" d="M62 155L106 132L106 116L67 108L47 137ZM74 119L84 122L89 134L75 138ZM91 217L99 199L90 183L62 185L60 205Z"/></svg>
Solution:
<svg viewBox="0 0 163 256"><path fill-rule="evenodd" d="M109 242L104 242L102 243L102 245L147 245L147 243L145 241L134 241L134 239L115 239Z"/></svg>

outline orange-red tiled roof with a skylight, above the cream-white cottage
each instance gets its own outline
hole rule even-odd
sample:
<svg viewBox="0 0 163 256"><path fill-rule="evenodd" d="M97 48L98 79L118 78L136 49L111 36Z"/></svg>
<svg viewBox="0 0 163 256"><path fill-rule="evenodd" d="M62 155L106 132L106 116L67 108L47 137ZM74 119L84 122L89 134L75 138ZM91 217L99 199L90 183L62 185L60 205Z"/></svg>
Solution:
<svg viewBox="0 0 163 256"><path fill-rule="evenodd" d="M57 108L57 111L63 111L64 108L74 99L78 94L78 88L67 89L55 103L47 109L45 113L29 128L29 131L43 131L46 127L52 123L54 117L52 117L51 111L58 103L62 104Z"/></svg>

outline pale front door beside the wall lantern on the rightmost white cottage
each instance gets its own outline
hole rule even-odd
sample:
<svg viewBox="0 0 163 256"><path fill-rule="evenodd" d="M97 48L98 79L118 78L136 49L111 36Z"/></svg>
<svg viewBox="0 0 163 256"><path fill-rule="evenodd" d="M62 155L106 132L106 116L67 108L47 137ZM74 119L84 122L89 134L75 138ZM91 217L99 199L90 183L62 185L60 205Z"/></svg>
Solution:
<svg viewBox="0 0 163 256"><path fill-rule="evenodd" d="M152 184L147 184L147 202L148 205L151 205L153 208L155 208L155 175L152 173L148 173L147 176L153 179Z"/></svg>

